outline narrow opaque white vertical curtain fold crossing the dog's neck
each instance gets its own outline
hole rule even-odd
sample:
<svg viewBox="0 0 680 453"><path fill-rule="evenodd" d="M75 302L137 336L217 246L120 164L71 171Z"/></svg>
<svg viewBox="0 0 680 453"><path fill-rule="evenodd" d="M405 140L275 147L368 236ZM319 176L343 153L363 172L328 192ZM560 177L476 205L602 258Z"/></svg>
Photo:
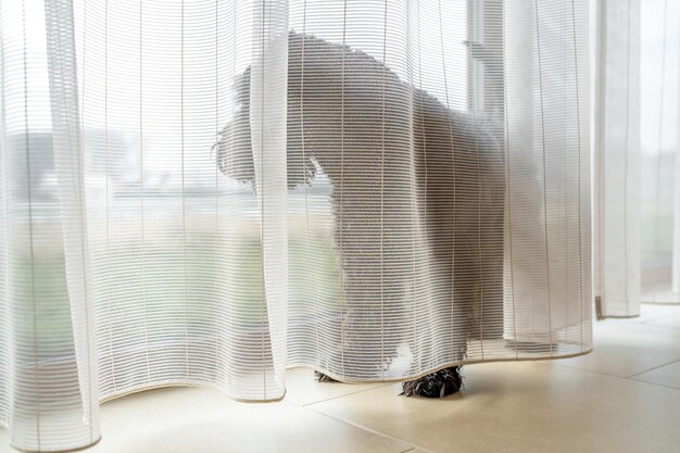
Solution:
<svg viewBox="0 0 680 453"><path fill-rule="evenodd" d="M262 255L263 348L262 391L248 399L282 398L288 332L288 228L287 228L287 68L288 2L266 0L255 4L253 56L250 73L250 126L254 190L260 211ZM245 89L248 89L245 87ZM270 370L268 368L270 367ZM267 374L267 370L269 372ZM261 380L260 378L255 381Z"/></svg>

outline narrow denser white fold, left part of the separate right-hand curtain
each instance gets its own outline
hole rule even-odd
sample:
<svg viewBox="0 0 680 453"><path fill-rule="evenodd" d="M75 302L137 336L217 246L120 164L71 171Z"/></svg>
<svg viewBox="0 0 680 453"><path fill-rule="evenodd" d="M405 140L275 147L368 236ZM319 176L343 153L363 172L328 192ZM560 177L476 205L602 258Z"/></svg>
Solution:
<svg viewBox="0 0 680 453"><path fill-rule="evenodd" d="M596 5L593 188L595 307L599 318L638 316L642 188L641 8L640 0L600 0Z"/></svg>

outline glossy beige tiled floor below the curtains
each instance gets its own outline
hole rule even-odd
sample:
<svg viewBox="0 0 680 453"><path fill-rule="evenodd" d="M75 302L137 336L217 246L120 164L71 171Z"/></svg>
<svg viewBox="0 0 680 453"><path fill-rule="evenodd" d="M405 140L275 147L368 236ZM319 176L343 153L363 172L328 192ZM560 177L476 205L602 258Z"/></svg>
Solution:
<svg viewBox="0 0 680 453"><path fill-rule="evenodd" d="M596 323L583 357L464 372L465 391L442 400L398 397L395 383L318 383L307 369L289 372L279 403L146 392L102 405L104 437L90 451L680 452L680 306Z"/></svg>

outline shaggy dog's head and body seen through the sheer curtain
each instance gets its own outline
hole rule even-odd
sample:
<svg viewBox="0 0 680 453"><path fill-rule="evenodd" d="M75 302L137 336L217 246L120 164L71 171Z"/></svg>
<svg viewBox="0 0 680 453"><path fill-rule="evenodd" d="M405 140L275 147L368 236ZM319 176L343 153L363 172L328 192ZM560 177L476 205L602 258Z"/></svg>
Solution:
<svg viewBox="0 0 680 453"><path fill-rule="evenodd" d="M413 337L400 314L427 302L414 300L405 284L418 284L415 261L410 267L404 259L416 236L426 247L430 298L448 301L436 304L440 313L431 316L450 320L454 331L451 350L431 364L419 363L417 341L406 341L412 373L462 361L468 340L501 338L502 124L446 109L360 50L291 33L288 52L288 187L311 184L317 172L333 187L345 309L342 334L328 348L357 374L385 376L404 338ZM238 113L215 146L217 165L254 187L250 68L237 78L235 96ZM376 181L380 190L369 190ZM418 332L418 341L437 334ZM316 367L356 380L338 362L331 357Z"/></svg>

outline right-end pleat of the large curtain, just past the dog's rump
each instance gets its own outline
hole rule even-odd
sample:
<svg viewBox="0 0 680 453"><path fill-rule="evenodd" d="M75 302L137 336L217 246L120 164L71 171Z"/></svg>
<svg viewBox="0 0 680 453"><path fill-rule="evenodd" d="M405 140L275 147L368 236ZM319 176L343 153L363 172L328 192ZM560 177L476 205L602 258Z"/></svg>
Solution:
<svg viewBox="0 0 680 453"><path fill-rule="evenodd" d="M505 9L506 335L522 345L552 344L557 331L588 338L588 12L578 2Z"/></svg>

